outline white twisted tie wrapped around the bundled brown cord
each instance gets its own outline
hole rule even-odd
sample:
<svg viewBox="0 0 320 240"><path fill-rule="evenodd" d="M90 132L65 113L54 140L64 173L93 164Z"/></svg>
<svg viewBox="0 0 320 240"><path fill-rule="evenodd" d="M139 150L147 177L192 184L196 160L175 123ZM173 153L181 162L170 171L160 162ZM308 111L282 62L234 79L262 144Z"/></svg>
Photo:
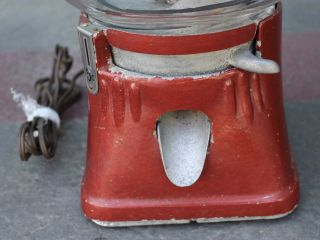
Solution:
<svg viewBox="0 0 320 240"><path fill-rule="evenodd" d="M29 95L26 96L22 93L18 93L13 90L13 88L11 88L10 91L13 101L18 103L18 106L23 110L27 117L27 121L32 121L36 117L41 117L54 122L58 128L60 127L61 120L59 114L54 109L38 104L37 101Z"/></svg>

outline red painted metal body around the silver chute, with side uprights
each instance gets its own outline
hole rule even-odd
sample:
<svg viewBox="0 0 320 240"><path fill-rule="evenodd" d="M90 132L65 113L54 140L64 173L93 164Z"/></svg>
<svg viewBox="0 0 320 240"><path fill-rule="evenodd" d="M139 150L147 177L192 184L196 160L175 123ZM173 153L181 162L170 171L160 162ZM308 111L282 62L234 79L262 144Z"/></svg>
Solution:
<svg viewBox="0 0 320 240"><path fill-rule="evenodd" d="M262 56L280 63L280 7L257 29ZM230 69L197 79L129 77L110 72L106 34L96 36L95 47L99 93L89 96L88 160L82 183L88 218L254 218L295 208L299 185L289 151L280 74ZM184 188L167 178L155 135L159 117L176 110L205 113L214 139L200 179Z"/></svg>

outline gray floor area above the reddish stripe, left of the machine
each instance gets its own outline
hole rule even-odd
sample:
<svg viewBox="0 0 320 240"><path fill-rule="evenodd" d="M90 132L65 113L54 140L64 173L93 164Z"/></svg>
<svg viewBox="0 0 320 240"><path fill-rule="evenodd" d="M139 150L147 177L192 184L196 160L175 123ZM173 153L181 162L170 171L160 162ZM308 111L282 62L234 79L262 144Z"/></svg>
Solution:
<svg viewBox="0 0 320 240"><path fill-rule="evenodd" d="M60 43L78 51L79 11L64 0L1 0L1 52L47 50Z"/></svg>

